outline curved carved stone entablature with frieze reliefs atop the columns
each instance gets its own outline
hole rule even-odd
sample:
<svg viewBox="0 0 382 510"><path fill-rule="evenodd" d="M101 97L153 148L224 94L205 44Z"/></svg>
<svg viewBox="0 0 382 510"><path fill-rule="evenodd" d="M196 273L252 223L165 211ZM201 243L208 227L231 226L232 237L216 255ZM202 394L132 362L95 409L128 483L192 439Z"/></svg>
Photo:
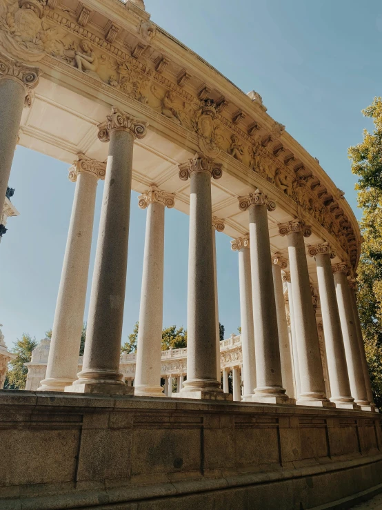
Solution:
<svg viewBox="0 0 382 510"><path fill-rule="evenodd" d="M257 92L245 95L152 23L142 6L119 0L0 0L1 50L38 64L46 77L59 77L68 88L85 81L86 94L98 101L129 104L151 129L264 189L355 269L361 244L356 219L318 159L268 115Z"/></svg>

